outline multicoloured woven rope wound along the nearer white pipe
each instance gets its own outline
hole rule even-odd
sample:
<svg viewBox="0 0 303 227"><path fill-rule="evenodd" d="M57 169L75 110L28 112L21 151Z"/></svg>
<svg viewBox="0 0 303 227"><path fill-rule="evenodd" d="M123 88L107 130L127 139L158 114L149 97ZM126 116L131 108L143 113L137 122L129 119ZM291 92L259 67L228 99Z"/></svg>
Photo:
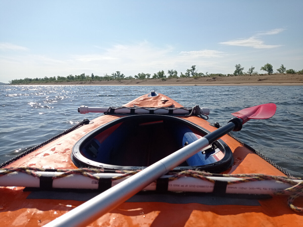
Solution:
<svg viewBox="0 0 303 227"><path fill-rule="evenodd" d="M12 172L23 172L29 175L32 175L36 178L39 178L41 174L36 173L36 171L49 171L48 169L42 169L42 168L31 168L31 167L21 167L21 168L2 168L0 171L3 171L0 173L0 177L9 174ZM57 172L63 172L64 174L56 175L53 176L52 179L57 179L57 178L62 178L66 177L71 174L81 174L85 177L89 177L95 180L99 180L100 177L93 175L94 173L104 173L103 169L92 169L92 168L80 168L80 169L52 169L53 171ZM141 170L135 170L135 171L115 171L116 173L120 173L122 175L115 176L110 178L111 181L122 179L131 175L134 175ZM169 177L169 181L176 180L180 177L194 177L194 178L199 178L201 180L209 181L212 183L215 183L214 179L211 179L209 177L236 177L236 178L241 178L238 180L231 180L227 181L227 184L237 184L237 183L243 183L243 182L249 182L249 181L263 181L263 180L275 180L275 181L281 181L283 183L288 183L293 186L286 188L282 191L277 191L274 192L274 195L289 195L287 203L288 206L294 210L295 212L303 212L303 208L297 207L293 205L292 203L294 200L298 197L303 196L303 181L297 183L294 180L303 180L303 178L298 178L298 177L288 177L288 176L272 176L272 175L267 175L267 174L211 174L207 173L204 171L194 171L194 170L185 170L182 172L172 172L170 174L173 174L173 176Z"/></svg>

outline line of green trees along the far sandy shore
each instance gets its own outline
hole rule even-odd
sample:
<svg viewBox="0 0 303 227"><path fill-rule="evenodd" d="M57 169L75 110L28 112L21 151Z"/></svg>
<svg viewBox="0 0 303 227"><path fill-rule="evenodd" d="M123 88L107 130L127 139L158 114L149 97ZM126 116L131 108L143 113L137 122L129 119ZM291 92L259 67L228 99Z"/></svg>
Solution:
<svg viewBox="0 0 303 227"><path fill-rule="evenodd" d="M247 73L244 73L244 67L241 66L241 64L236 64L235 65L235 72L233 74L222 74L222 73L208 73L206 72L198 73L198 69L196 69L196 66L193 65L190 67L190 69L186 69L185 73L180 73L180 76L178 76L177 70L174 69L169 69L167 71L168 76L165 75L164 70L161 70L157 73L154 73L153 76L151 76L150 73L138 73L137 75L133 76L125 76L123 73L120 71L116 71L112 73L111 75L108 75L105 73L103 76L97 76L92 73L92 75L85 75L85 73L82 73L80 75L75 75L73 76L72 74L68 76L53 76L53 77L47 77L45 76L44 78L24 78L24 79L15 79L9 81L10 84L25 84L25 83L62 83L62 82L72 82L72 81L104 81L104 80L134 80L134 79L171 79L171 78L184 78L184 77L191 77L191 78L200 78L200 77L215 77L215 76L234 76L234 75L244 75L244 74L258 74L257 71L254 71L255 67L251 66ZM273 67L271 64L267 63L264 66L260 68L260 70L266 71L268 74L273 73ZM295 71L294 69L287 69L285 66L282 64L280 68L277 69L278 73L290 73L290 74L303 74L303 69L300 71Z"/></svg>

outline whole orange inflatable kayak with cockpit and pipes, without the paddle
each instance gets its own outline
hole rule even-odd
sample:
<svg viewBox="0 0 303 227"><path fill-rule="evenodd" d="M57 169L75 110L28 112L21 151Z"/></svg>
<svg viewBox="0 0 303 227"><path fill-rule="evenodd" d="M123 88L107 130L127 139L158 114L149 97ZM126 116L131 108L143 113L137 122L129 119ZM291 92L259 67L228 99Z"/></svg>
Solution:
<svg viewBox="0 0 303 227"><path fill-rule="evenodd" d="M2 164L2 226L52 226L128 174L217 130L207 108L185 108L154 91L104 112ZM302 226L303 199L289 200L302 195L301 179L265 159L225 134L87 226ZM220 180L226 177L242 181Z"/></svg>

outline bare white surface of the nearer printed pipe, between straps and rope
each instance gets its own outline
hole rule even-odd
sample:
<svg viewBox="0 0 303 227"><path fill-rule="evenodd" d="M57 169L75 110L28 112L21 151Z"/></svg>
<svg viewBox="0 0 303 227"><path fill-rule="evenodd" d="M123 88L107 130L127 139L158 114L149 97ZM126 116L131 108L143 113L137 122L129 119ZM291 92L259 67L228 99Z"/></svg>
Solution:
<svg viewBox="0 0 303 227"><path fill-rule="evenodd" d="M2 171L0 171L2 172ZM52 177L55 175L64 174L62 172L40 172L37 174L42 176ZM100 178L112 178L121 174L115 173L95 173L92 174ZM131 177L131 176L128 176ZM123 181L122 178L112 181L112 187ZM172 177L172 175L165 175L161 178ZM234 181L242 178L235 177L209 177L216 181ZM296 183L302 180L292 180ZM12 172L0 177L0 186L3 187L40 187L40 179L32 175L22 172ZM249 181L236 184L230 184L226 186L226 193L235 194L273 194L276 191L282 191L291 187L291 184L283 183L275 180L262 180L262 181ZM53 188L70 188L70 189L98 189L98 180L85 177L80 174L71 174L62 178L56 178L52 182ZM176 180L168 182L168 191L188 191L188 192L212 192L214 189L214 183L201 180L193 177L180 177ZM156 190L156 183L153 182L143 190Z"/></svg>

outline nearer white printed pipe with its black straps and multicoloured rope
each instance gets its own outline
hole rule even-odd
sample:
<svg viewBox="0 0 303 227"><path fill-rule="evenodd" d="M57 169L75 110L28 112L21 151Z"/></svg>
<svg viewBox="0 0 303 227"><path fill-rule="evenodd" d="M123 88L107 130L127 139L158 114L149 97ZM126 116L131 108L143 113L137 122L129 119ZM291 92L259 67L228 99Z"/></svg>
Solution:
<svg viewBox="0 0 303 227"><path fill-rule="evenodd" d="M37 187L42 188L42 190L64 188L99 189L104 191L140 171L109 171L93 168L2 168L0 169L0 186ZM24 174L29 175L30 178ZM68 176L70 177L68 178ZM43 180L41 180L42 178ZM48 178L47 181L46 178ZM65 180L61 180L59 183L56 182L56 180L62 178L65 178ZM85 178L96 181L85 181ZM47 182L48 187L43 185L45 182ZM288 206L295 212L303 212L302 207L293 205L296 198L303 196L303 178L299 177L272 176L268 174L212 174L189 169L181 172L170 172L143 190L158 191L157 187L160 184L161 192L216 193L219 190L221 196L228 196L228 194L288 195ZM230 186L238 184L241 184L241 186Z"/></svg>

